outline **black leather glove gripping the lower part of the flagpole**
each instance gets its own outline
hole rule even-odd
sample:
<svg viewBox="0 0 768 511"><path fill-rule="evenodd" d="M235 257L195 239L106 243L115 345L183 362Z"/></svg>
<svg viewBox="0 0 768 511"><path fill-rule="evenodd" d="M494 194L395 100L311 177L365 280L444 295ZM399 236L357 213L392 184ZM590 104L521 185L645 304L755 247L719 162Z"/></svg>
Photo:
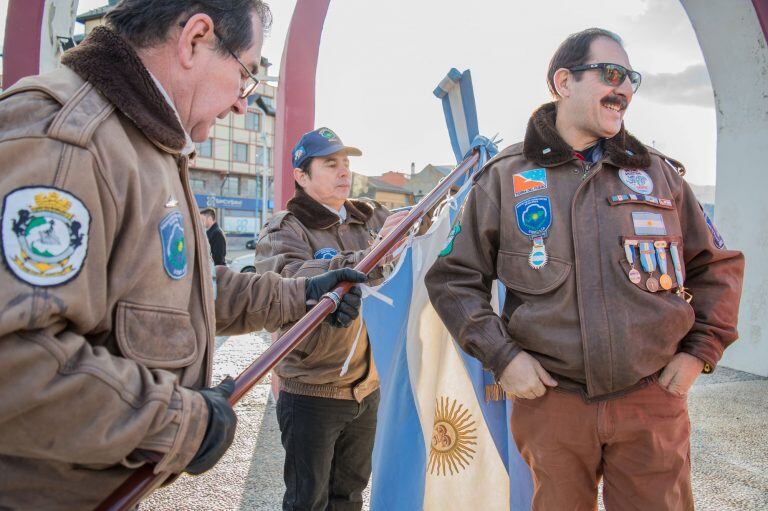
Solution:
<svg viewBox="0 0 768 511"><path fill-rule="evenodd" d="M208 405L208 427L197 454L184 469L186 472L199 475L210 470L232 444L237 416L228 399L234 391L235 380L230 376L217 386L200 391Z"/></svg>

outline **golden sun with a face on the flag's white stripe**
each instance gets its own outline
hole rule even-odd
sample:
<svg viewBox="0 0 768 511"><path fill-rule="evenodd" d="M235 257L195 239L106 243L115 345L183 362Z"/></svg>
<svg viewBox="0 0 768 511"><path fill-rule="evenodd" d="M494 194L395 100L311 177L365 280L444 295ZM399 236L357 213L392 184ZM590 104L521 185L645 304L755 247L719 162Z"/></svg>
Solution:
<svg viewBox="0 0 768 511"><path fill-rule="evenodd" d="M477 445L472 414L455 399L441 397L435 407L435 426L429 449L430 474L458 474L469 466Z"/></svg>

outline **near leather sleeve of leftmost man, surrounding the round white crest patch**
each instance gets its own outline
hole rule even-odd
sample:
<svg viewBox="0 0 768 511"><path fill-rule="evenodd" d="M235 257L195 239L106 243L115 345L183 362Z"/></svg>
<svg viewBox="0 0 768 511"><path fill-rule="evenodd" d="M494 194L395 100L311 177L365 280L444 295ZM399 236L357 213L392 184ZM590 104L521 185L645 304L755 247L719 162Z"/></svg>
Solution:
<svg viewBox="0 0 768 511"><path fill-rule="evenodd" d="M58 141L19 137L0 142L0 161L0 196L56 186L91 216L87 257L71 280L42 288L0 269L0 453L106 467L135 466L132 453L150 450L164 455L158 471L181 471L205 433L202 397L173 373L83 335L108 314L108 261L119 230L114 191L97 159Z"/></svg>

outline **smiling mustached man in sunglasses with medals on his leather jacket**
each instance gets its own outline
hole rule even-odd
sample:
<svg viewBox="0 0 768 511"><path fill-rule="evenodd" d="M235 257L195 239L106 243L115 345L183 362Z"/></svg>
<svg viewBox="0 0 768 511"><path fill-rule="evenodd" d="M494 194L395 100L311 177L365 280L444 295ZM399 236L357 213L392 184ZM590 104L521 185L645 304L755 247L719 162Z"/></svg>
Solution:
<svg viewBox="0 0 768 511"><path fill-rule="evenodd" d="M608 510L692 510L687 393L737 338L743 256L683 166L626 131L640 74L616 34L569 36L547 84L476 177L430 298L514 401L534 510L597 509L601 478Z"/></svg>

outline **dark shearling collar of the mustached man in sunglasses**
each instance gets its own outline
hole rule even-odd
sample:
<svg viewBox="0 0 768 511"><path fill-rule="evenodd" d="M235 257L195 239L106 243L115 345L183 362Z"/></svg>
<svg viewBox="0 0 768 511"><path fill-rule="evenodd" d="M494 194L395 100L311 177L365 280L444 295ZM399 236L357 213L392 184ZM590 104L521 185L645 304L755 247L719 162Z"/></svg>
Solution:
<svg viewBox="0 0 768 511"><path fill-rule="evenodd" d="M555 103L539 107L528 121L523 142L523 154L538 165L551 167L574 158L573 148L560 137L555 128ZM621 126L621 131L603 142L606 160L617 167L647 168L651 164L648 149Z"/></svg>

